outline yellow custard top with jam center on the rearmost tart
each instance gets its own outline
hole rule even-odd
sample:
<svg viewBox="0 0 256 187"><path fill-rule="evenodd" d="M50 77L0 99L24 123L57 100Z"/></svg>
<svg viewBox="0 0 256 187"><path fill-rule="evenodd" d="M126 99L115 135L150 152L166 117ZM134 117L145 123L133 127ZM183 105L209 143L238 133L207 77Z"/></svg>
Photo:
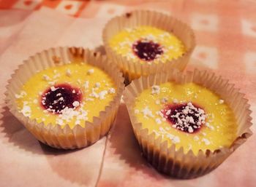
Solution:
<svg viewBox="0 0 256 187"><path fill-rule="evenodd" d="M128 59L165 63L186 52L185 46L173 33L151 26L126 28L109 40L110 47Z"/></svg>

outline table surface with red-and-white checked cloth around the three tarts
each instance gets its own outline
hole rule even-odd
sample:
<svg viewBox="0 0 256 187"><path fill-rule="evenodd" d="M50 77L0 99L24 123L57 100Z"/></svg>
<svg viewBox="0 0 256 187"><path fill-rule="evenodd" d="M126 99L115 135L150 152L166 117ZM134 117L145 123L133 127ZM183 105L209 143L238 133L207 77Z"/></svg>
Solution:
<svg viewBox="0 0 256 187"><path fill-rule="evenodd" d="M255 135L210 174L175 180L143 159L124 104L109 135L77 151L39 143L7 110L5 86L23 60L49 47L99 47L110 17L133 9L159 10L191 25L197 47L187 69L211 69L230 79L249 99L255 123L256 1L2 0L0 186L255 186Z"/></svg>

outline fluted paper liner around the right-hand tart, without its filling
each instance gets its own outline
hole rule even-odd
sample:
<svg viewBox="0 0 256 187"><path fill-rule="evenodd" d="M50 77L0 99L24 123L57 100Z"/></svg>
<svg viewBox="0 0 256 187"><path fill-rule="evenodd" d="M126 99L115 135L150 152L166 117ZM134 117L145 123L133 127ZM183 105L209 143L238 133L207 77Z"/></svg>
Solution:
<svg viewBox="0 0 256 187"><path fill-rule="evenodd" d="M157 138L154 133L149 134L148 129L142 127L142 124L135 117L135 98L143 89L167 81L176 81L180 84L188 82L199 84L220 95L225 100L225 103L230 108L233 108L238 130L237 138L229 148L219 148L215 151L206 150L205 152L200 150L197 155L193 154L192 150L184 153L183 148L176 150L175 144L168 147L166 141L162 140L162 138ZM238 92L238 89L234 88L234 85L228 83L227 80L208 71L195 70L181 73L175 70L169 73L140 77L140 79L132 81L126 87L124 101L127 104L132 127L143 155L159 172L174 178L187 179L205 175L218 167L227 156L232 154L238 146L241 146L252 135L251 130L249 130L252 125L252 118L249 116L251 111L244 94Z"/></svg>

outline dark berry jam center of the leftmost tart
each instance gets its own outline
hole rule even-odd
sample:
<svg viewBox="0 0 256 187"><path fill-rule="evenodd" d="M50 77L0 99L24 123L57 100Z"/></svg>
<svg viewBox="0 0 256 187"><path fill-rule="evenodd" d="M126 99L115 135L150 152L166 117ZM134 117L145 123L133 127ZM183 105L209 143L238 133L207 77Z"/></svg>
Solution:
<svg viewBox="0 0 256 187"><path fill-rule="evenodd" d="M53 114L61 114L64 108L77 108L82 92L69 84L58 84L45 90L41 97L42 108Z"/></svg>

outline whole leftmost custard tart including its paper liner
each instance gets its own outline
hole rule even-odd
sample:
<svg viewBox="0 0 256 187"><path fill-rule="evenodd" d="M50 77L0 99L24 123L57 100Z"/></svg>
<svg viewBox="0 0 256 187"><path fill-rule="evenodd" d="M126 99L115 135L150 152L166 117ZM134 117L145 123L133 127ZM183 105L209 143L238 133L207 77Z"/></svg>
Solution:
<svg viewBox="0 0 256 187"><path fill-rule="evenodd" d="M124 89L116 65L89 49L59 47L24 61L7 86L7 106L42 143L82 148L111 127Z"/></svg>

